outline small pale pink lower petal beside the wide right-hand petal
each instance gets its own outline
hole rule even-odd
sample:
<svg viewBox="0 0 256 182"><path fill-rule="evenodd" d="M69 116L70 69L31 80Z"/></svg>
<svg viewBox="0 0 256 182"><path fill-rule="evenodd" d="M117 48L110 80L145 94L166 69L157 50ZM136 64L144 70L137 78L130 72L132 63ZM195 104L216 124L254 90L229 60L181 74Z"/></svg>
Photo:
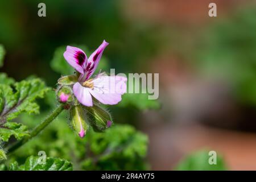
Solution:
<svg viewBox="0 0 256 182"><path fill-rule="evenodd" d="M73 93L76 96L77 100L85 106L93 106L92 96L89 93L89 88L85 88L79 82L73 86Z"/></svg>

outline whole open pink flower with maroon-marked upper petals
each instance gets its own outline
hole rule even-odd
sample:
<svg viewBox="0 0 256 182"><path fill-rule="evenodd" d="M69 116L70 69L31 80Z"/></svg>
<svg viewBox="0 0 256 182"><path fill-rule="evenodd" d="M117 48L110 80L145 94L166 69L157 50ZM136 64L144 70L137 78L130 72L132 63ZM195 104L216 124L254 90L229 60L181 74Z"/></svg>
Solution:
<svg viewBox="0 0 256 182"><path fill-rule="evenodd" d="M121 96L126 92L126 77L101 73L90 78L108 44L104 40L88 59L80 48L67 46L64 52L67 62L80 73L78 82L73 85L73 93L82 105L93 106L92 96L102 104L115 105L122 100Z"/></svg>

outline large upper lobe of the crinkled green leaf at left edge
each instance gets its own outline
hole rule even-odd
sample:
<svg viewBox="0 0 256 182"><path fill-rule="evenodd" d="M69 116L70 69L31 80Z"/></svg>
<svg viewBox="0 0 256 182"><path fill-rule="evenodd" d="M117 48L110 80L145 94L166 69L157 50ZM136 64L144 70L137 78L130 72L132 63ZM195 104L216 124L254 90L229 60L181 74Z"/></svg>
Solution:
<svg viewBox="0 0 256 182"><path fill-rule="evenodd" d="M15 91L9 85L0 84L0 123L18 117L20 113L39 113L36 98L43 98L49 90L39 78L24 80L14 84Z"/></svg>

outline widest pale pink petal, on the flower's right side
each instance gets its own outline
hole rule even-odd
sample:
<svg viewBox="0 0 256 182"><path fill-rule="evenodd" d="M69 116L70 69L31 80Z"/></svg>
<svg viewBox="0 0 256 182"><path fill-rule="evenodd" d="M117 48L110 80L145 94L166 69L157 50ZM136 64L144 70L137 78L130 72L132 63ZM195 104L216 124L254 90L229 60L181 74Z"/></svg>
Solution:
<svg viewBox="0 0 256 182"><path fill-rule="evenodd" d="M93 80L94 88L89 92L102 104L115 105L126 92L126 80L121 76L100 76Z"/></svg>

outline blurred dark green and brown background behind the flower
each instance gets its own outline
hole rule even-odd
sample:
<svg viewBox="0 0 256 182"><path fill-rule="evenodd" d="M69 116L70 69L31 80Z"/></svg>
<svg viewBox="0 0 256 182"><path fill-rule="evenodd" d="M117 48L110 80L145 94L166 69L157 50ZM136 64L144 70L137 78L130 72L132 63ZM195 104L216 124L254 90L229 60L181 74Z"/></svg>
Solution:
<svg viewBox="0 0 256 182"><path fill-rule="evenodd" d="M208 16L210 2L217 17ZM17 81L36 75L55 87L65 46L91 52L104 39L102 68L159 73L159 100L131 94L110 107L115 123L148 136L148 168L175 169L193 152L214 150L227 169L256 169L255 1L0 2L1 72Z"/></svg>

